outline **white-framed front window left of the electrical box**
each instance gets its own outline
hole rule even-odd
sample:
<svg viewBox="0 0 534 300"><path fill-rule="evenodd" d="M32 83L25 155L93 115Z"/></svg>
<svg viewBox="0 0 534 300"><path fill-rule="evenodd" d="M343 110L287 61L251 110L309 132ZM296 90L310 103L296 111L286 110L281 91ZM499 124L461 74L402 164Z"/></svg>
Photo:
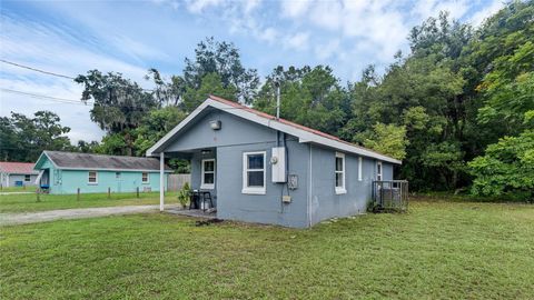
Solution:
<svg viewBox="0 0 534 300"><path fill-rule="evenodd" d="M243 153L243 193L265 194L266 152Z"/></svg>

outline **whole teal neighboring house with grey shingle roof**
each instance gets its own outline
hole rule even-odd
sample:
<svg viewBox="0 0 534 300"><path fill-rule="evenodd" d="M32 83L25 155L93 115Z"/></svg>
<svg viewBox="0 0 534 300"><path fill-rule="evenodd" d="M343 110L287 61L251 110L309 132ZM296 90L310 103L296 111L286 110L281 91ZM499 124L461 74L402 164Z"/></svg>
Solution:
<svg viewBox="0 0 534 300"><path fill-rule="evenodd" d="M50 193L159 191L159 160L78 152L43 151L36 182ZM165 166L164 186L172 171Z"/></svg>

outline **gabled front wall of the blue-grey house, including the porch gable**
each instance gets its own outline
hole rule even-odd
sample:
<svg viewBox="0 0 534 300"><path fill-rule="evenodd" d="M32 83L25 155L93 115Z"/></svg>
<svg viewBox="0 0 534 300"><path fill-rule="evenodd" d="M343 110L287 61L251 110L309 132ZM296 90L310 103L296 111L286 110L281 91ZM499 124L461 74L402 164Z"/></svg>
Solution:
<svg viewBox="0 0 534 300"><path fill-rule="evenodd" d="M221 121L220 130L212 130L209 122ZM283 142L280 134L280 144ZM287 136L288 171L298 176L298 189L287 191L285 184L273 183L269 159L276 147L275 130L222 111L212 111L195 122L187 131L168 146L166 152L185 151L191 153L191 188L200 189L201 160L216 158L217 217L258 223L276 223L305 228L307 222L307 144ZM214 149L202 154L202 149ZM243 193L243 153L266 151L266 193ZM283 203L281 196L290 194L291 202Z"/></svg>

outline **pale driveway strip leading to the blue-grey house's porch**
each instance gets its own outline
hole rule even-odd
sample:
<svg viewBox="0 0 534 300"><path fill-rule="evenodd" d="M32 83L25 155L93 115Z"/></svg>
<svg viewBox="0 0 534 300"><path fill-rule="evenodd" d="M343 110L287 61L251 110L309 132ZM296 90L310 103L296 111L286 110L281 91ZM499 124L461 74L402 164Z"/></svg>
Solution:
<svg viewBox="0 0 534 300"><path fill-rule="evenodd" d="M165 209L174 209L176 206L165 206ZM60 209L39 212L24 213L0 213L0 226L27 224L47 222L59 219L82 219L106 217L113 214L129 214L140 212L157 212L159 206L129 206L129 207L109 207L109 208L82 208L82 209Z"/></svg>

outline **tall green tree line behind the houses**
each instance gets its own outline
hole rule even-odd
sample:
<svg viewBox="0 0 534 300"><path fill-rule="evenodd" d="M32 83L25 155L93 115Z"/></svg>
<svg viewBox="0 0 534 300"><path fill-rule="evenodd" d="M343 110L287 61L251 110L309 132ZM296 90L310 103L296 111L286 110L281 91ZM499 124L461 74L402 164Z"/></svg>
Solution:
<svg viewBox="0 0 534 300"><path fill-rule="evenodd" d="M151 90L91 70L75 81L106 137L77 149L142 156L209 93L275 113L278 83L283 118L402 159L397 176L413 190L532 199L533 16L532 0L507 3L478 28L442 12L411 31L409 53L398 52L384 74L369 66L356 82L342 82L328 66L279 66L260 81L233 43L212 38L181 74L149 70Z"/></svg>

